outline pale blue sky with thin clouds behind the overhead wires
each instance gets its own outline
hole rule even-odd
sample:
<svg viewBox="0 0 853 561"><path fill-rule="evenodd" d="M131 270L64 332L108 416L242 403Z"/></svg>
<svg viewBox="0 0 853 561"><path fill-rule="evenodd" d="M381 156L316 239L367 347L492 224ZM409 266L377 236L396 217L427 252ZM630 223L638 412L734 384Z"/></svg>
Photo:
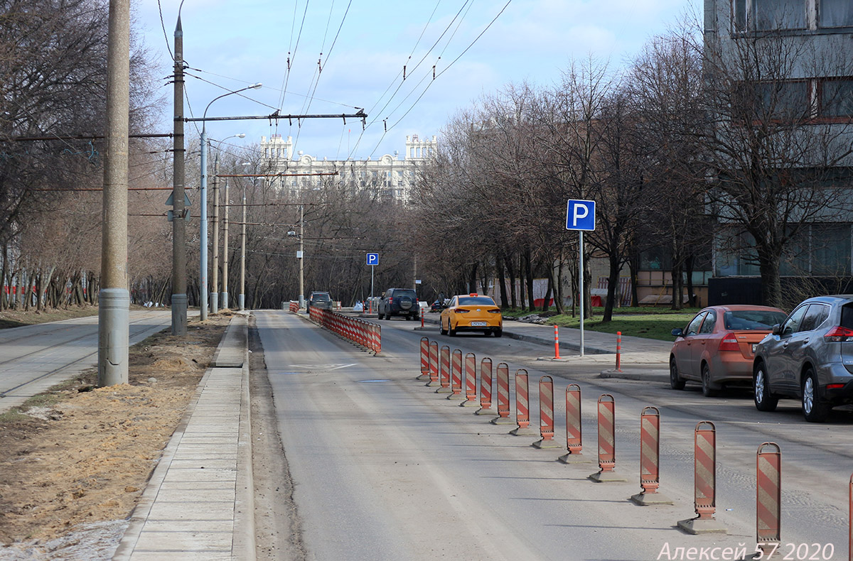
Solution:
<svg viewBox="0 0 853 561"><path fill-rule="evenodd" d="M353 114L359 119L219 121L223 144L293 136L319 159L405 155L405 137L438 136L461 110L508 84L559 83L592 55L624 67L649 38L700 0L183 0L185 114L208 117ZM133 26L162 78L160 119L171 132L177 0L135 0ZM162 17L161 17L162 14ZM164 32L165 26L165 32ZM288 63L289 60L289 63ZM318 61L321 63L318 65ZM403 80L403 66L406 76ZM435 67L435 79L432 78ZM318 72L319 69L319 72ZM245 96L243 96L245 95ZM188 139L200 124L187 124ZM189 141L188 141L189 144ZM188 146L189 147L189 146Z"/></svg>

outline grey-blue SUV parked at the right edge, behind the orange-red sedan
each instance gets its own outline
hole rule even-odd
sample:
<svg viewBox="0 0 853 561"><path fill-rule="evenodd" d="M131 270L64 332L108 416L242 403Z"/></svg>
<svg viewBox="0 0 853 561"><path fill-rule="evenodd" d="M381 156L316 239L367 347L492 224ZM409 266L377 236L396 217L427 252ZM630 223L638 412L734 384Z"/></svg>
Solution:
<svg viewBox="0 0 853 561"><path fill-rule="evenodd" d="M853 402L853 295L808 298L794 308L757 344L752 384L759 411L792 397L810 422Z"/></svg>

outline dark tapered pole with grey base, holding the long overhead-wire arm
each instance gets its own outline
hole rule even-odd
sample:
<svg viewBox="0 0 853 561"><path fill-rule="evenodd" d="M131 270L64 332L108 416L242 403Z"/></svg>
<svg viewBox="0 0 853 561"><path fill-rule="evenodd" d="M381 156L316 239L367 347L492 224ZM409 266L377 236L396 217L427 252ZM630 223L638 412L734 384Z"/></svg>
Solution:
<svg viewBox="0 0 853 561"><path fill-rule="evenodd" d="M172 152L172 220L171 220L171 333L187 334L187 223L183 207L183 29L181 16L175 26L175 95Z"/></svg>

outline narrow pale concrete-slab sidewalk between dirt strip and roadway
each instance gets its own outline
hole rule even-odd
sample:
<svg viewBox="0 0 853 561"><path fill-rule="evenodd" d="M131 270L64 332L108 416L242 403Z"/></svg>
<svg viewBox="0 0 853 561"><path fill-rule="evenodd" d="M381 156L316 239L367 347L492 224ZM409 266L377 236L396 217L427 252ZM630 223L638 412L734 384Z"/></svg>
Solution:
<svg viewBox="0 0 853 561"><path fill-rule="evenodd" d="M248 316L231 320L113 559L255 558Z"/></svg>

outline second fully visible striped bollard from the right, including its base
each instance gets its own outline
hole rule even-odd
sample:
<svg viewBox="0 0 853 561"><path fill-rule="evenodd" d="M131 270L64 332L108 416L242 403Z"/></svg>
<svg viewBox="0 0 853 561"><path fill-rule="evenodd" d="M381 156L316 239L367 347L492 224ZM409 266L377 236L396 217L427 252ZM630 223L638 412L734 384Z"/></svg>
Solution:
<svg viewBox="0 0 853 561"><path fill-rule="evenodd" d="M699 421L693 431L693 507L696 518L679 520L678 527L688 534L726 534L714 518L717 512L717 427L711 421Z"/></svg>

